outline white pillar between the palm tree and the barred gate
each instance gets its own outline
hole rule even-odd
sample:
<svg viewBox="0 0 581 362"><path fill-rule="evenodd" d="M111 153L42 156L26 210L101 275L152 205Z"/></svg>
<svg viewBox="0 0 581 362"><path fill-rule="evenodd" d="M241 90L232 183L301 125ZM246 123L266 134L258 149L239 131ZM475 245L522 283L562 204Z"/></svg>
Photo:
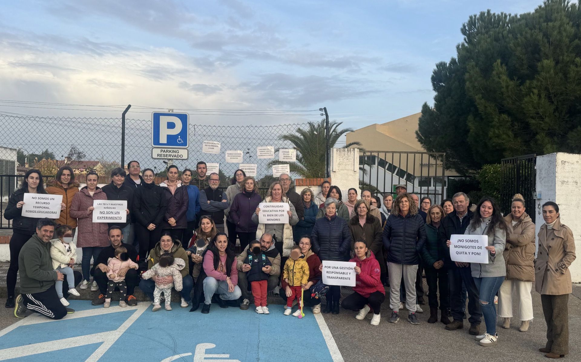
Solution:
<svg viewBox="0 0 581 362"><path fill-rule="evenodd" d="M331 179L341 189L343 201L347 200L350 187L359 190L359 149L331 150ZM361 195L361 191L357 194Z"/></svg>

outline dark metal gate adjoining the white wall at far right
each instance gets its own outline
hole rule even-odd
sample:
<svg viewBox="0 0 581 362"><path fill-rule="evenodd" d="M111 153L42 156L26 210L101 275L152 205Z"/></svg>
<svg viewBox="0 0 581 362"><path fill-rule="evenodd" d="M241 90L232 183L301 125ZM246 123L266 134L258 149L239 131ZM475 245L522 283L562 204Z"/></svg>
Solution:
<svg viewBox="0 0 581 362"><path fill-rule="evenodd" d="M511 212L511 201L515 194L521 194L525 198L525 206L529 210L534 210L536 163L536 154L503 158L500 161L500 209L504 215ZM528 212L528 215L535 222L536 213Z"/></svg>

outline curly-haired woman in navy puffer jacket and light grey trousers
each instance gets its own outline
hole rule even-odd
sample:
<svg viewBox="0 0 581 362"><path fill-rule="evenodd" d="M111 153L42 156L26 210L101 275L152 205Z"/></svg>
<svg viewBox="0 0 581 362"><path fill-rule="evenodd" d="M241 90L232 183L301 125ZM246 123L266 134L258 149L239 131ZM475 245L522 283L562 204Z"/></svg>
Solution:
<svg viewBox="0 0 581 362"><path fill-rule="evenodd" d="M401 194L393 202L392 213L383 228L383 247L387 254L389 274L389 299L392 316L389 321L399 320L400 284L403 277L406 286L408 321L419 324L415 316L415 277L418 270L419 252L426 242L424 218L418 215L418 207L408 193Z"/></svg>

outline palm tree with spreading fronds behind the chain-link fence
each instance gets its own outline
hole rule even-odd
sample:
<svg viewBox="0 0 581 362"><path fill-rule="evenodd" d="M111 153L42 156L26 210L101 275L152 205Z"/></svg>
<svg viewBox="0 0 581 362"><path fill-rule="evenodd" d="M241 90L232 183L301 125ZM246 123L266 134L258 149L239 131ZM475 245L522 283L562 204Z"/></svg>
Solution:
<svg viewBox="0 0 581 362"><path fill-rule="evenodd" d="M335 143L347 132L353 132L353 128L338 129L343 122L329 122L329 148L332 149ZM297 151L296 162L271 161L269 165L289 163L290 172L302 178L318 179L324 178L327 170L325 159L327 156L325 139L325 120L321 122L308 122L308 128L299 128L295 133L282 135L281 140L286 140L293 144L293 149ZM352 146L361 146L360 142L347 143L342 148L347 149Z"/></svg>

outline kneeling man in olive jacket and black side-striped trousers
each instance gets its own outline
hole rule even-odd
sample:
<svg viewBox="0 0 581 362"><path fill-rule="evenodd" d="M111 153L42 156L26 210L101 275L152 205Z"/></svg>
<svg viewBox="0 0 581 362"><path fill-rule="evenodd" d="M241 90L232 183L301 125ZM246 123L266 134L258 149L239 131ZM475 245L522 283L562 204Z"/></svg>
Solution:
<svg viewBox="0 0 581 362"><path fill-rule="evenodd" d="M64 280L63 286L66 285L67 288L69 284L62 273L52 268L50 241L55 226L52 219L38 220L36 234L20 250L20 295L16 297L14 309L17 318L26 317L26 309L51 319L60 319L67 313L74 312L73 309L64 307L56 294L55 281ZM74 277L77 285L81 281L81 273L76 271Z"/></svg>

